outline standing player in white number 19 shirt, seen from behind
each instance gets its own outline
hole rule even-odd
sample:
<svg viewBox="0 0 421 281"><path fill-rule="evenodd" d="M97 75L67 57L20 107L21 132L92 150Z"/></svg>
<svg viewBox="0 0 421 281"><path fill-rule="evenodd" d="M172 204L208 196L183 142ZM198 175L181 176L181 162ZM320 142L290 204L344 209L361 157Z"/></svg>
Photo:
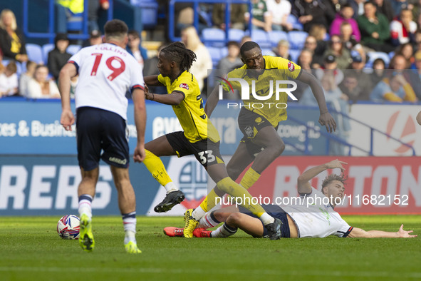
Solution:
<svg viewBox="0 0 421 281"><path fill-rule="evenodd" d="M126 132L128 99L132 92L135 106L137 145L135 162L145 158L145 93L139 63L126 50L128 26L120 20L108 21L105 43L82 48L61 69L58 78L61 93L61 124L71 131L75 117L71 111L70 82L79 75L76 86L76 131L78 161L82 181L78 187L80 246L86 252L95 247L92 233L91 202L98 182L100 158L110 165L118 206L123 216L125 250L140 253L135 238L136 199L129 178L129 148ZM101 153L102 151L102 153Z"/></svg>

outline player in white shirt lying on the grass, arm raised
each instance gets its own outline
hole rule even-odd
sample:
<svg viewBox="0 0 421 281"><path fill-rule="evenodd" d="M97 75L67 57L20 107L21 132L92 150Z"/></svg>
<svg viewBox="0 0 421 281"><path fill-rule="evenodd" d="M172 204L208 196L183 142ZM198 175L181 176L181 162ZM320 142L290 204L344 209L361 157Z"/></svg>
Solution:
<svg viewBox="0 0 421 281"><path fill-rule="evenodd" d="M297 200L296 205L262 205L269 215L279 218L282 222L281 237L327 237L336 235L338 237L417 237L410 235L412 230L403 230L403 225L395 233L380 230L365 231L360 228L353 228L341 218L335 210L336 203L342 202L345 192L345 177L341 175L328 175L322 183L321 191L311 186L311 179L327 169L340 168L345 171L340 160L333 160L329 163L318 165L306 170L298 177L298 193L301 204ZM326 197L328 199L326 199ZM325 199L323 203L323 198ZM327 201L327 204L326 204ZM217 230L209 231L219 223L224 222ZM237 230L254 237L266 237L266 229L261 221L244 208L234 206L207 213L200 220L194 230L195 237L229 237ZM168 236L182 236L182 228L168 227L164 229Z"/></svg>

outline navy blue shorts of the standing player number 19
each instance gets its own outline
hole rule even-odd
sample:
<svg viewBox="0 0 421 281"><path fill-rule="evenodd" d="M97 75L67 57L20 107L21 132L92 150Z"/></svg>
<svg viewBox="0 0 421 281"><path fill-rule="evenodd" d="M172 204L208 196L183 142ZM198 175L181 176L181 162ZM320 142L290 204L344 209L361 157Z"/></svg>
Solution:
<svg viewBox="0 0 421 281"><path fill-rule="evenodd" d="M129 166L125 120L111 111L81 107L76 110L78 161L83 170L98 167L100 158L118 168ZM102 150L102 153L101 153Z"/></svg>

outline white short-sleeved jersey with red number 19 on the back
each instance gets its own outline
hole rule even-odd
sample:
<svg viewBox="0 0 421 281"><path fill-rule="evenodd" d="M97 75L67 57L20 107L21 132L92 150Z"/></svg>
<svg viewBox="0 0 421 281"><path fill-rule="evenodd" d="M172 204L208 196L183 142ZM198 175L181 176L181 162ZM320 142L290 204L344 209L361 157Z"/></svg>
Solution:
<svg viewBox="0 0 421 281"><path fill-rule="evenodd" d="M143 88L139 63L124 48L100 44L82 48L69 61L79 74L76 108L90 106L117 113L127 119L127 91Z"/></svg>

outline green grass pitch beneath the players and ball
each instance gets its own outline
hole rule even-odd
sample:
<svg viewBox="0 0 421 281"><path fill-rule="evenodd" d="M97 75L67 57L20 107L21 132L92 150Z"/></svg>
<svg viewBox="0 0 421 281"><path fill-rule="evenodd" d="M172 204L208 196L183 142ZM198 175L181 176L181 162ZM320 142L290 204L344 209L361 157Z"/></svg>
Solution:
<svg viewBox="0 0 421 281"><path fill-rule="evenodd" d="M123 247L120 217L93 218L95 250L62 240L58 217L0 218L0 280L420 280L420 215L343 216L365 230L414 230L390 239L166 237L182 218L137 218L140 255ZM80 278L81 277L81 278Z"/></svg>

